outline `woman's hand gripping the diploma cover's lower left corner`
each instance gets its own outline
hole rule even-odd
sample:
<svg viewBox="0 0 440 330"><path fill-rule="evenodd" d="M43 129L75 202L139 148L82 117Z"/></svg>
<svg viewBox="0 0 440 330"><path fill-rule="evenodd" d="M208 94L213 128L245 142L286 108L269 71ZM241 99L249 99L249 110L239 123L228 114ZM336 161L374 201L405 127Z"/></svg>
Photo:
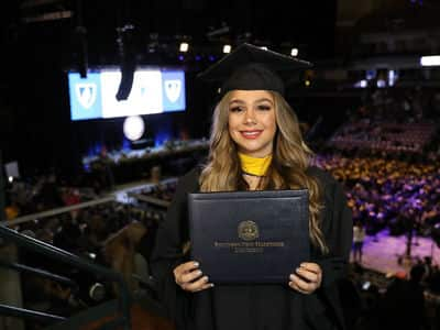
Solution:
<svg viewBox="0 0 440 330"><path fill-rule="evenodd" d="M202 276L198 262L190 261L180 264L174 268L173 273L177 285L186 292L197 293L213 287L212 283L208 283L208 276Z"/></svg>

